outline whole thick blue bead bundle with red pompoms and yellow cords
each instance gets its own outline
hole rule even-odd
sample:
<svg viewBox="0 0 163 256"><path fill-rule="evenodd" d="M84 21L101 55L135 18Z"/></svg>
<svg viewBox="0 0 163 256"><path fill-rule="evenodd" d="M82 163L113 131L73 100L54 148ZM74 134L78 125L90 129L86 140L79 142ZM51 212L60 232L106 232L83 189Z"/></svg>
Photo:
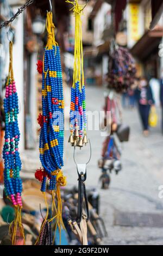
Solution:
<svg viewBox="0 0 163 256"><path fill-rule="evenodd" d="M62 92L62 70L60 60L60 48L55 41L54 24L52 13L47 13L47 45L41 61L37 63L37 70L42 73L42 114L38 121L41 126L40 131L40 161L43 169L38 169L35 173L36 179L42 182L41 191L46 200L46 181L49 179L49 190L52 192L52 213L53 216L48 220L47 215L42 223L40 236L37 242L41 244L41 237L45 237L47 230L51 230L49 223L55 219L55 231L61 231L62 222L62 203L60 196L60 186L66 185L66 178L62 174L61 167L63 161L64 147L64 99ZM41 67L42 64L42 67ZM55 205L55 195L57 206ZM46 202L47 204L47 202ZM49 235L51 237L51 235ZM46 244L51 244L52 239L44 239ZM49 241L49 243L47 242ZM45 244L42 243L42 244Z"/></svg>

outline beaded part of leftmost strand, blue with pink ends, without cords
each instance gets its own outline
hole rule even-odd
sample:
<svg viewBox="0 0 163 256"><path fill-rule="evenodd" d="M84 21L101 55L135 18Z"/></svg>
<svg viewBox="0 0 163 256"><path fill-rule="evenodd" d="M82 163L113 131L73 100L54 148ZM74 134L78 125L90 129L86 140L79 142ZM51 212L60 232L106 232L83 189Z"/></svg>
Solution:
<svg viewBox="0 0 163 256"><path fill-rule="evenodd" d="M21 159L18 153L20 131L18 129L18 96L14 80L6 85L4 98L5 112L5 142L3 147L4 159L4 191L14 206L22 208L22 181L20 179Z"/></svg>

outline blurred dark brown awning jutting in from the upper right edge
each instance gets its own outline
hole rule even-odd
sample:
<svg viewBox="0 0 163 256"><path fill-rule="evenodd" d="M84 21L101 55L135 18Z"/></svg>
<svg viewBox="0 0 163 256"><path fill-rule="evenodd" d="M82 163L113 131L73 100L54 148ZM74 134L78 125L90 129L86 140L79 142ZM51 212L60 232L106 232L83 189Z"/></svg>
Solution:
<svg viewBox="0 0 163 256"><path fill-rule="evenodd" d="M146 59L151 52L158 47L159 42L163 36L163 29L156 28L153 31L147 31L143 36L136 42L133 48L130 49L133 56L140 60Z"/></svg>

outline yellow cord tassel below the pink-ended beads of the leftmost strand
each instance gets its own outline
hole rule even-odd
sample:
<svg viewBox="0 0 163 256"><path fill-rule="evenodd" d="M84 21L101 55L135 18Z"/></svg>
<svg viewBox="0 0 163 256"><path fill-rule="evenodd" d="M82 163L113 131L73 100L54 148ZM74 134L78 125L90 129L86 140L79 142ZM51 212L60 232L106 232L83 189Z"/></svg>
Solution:
<svg viewBox="0 0 163 256"><path fill-rule="evenodd" d="M25 245L24 229L21 221L21 208L15 208L15 219L10 223L9 234L11 234L12 245L22 245L18 243L18 239L23 237L23 245Z"/></svg>

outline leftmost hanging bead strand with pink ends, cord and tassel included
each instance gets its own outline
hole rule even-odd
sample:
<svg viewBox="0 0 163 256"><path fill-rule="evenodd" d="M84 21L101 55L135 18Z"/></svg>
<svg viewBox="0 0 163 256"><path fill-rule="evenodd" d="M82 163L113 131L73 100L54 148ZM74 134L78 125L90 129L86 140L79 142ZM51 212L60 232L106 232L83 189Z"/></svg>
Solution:
<svg viewBox="0 0 163 256"><path fill-rule="evenodd" d="M15 219L10 224L12 245L18 240L25 243L24 230L21 222L22 209L22 181L20 179L21 159L18 152L20 131L18 129L18 96L12 69L12 42L10 41L10 64L9 74L5 89L4 113L5 113L5 142L3 147L4 159L4 191L15 208ZM20 237L18 239L18 237ZM18 240L17 240L18 239Z"/></svg>

